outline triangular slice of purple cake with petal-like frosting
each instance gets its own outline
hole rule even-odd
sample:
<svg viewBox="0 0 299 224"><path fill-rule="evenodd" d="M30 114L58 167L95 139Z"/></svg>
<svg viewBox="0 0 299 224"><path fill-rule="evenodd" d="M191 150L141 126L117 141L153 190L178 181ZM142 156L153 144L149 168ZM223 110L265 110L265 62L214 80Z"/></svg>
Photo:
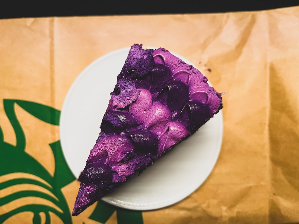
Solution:
<svg viewBox="0 0 299 224"><path fill-rule="evenodd" d="M207 81L164 48L133 45L79 177L72 215L141 173L218 113L221 93Z"/></svg>

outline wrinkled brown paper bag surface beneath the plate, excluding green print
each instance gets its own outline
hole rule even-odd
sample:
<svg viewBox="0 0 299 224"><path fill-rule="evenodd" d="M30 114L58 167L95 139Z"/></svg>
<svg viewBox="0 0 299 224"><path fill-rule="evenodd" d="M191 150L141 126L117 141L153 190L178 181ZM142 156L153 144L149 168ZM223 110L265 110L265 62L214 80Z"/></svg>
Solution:
<svg viewBox="0 0 299 224"><path fill-rule="evenodd" d="M33 101L61 110L72 83L95 59L134 43L164 47L190 60L218 92L226 92L223 142L204 184L175 205L142 212L144 223L299 222L298 40L299 7L219 14L0 20L4 142L16 145L17 139L3 99ZM59 127L41 122L19 105L15 110L28 139L25 151L54 175L54 155L48 144L60 139ZM3 175L0 183L25 176ZM31 188L0 187L0 200ZM76 180L62 188L70 210L78 188ZM49 201L24 197L1 203L0 215L28 203L55 207ZM72 217L73 222L98 223L88 218L94 208L92 205ZM50 215L52 223L62 222ZM45 220L44 215L40 217ZM5 223L31 223L32 219L33 214L24 211ZM106 223L116 222L113 213Z"/></svg>

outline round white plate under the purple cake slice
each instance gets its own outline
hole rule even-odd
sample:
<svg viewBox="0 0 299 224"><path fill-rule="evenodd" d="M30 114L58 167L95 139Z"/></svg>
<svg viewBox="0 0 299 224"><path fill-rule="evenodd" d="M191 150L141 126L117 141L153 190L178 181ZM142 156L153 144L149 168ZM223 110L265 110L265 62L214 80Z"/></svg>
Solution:
<svg viewBox="0 0 299 224"><path fill-rule="evenodd" d="M65 98L60 117L60 137L65 159L76 177L83 171L100 133L99 126L109 94L114 89L129 49L113 51L92 62L77 77ZM102 200L122 208L152 210L184 199L212 171L220 152L222 131L220 111L199 131Z"/></svg>

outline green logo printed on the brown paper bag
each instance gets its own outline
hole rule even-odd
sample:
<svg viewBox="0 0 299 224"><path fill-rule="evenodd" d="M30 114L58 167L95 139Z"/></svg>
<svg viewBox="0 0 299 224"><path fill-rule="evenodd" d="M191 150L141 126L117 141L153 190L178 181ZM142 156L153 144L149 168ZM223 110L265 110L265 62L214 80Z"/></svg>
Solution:
<svg viewBox="0 0 299 224"><path fill-rule="evenodd" d="M16 134L16 145L4 142L3 131L0 126L0 177L13 173L25 173L39 177L44 180L44 182L30 178L10 179L0 182L0 191L15 185L31 184L44 188L46 191L51 192L52 195L37 190L17 191L4 197L1 197L0 195L0 207L20 198L38 197L54 203L59 209L43 204L26 204L14 208L7 213L0 213L0 223L25 211L33 213L32 223L34 224L42 223L42 213L43 217L45 217L45 223L51 223L50 212L57 215L63 223L73 223L71 211L69 210L69 205L62 193L62 188L73 182L76 178L65 161L60 141L49 143L55 160L54 175L51 175L40 162L25 152L26 137L16 115L16 104L43 122L51 125L59 125L60 111L55 108L30 101L16 99L3 100L4 111ZM45 182L47 184L45 184ZM97 203L94 211L89 216L89 219L99 223L106 223L115 211L119 224L143 223L142 213L140 211L129 211L117 208L101 200Z"/></svg>

